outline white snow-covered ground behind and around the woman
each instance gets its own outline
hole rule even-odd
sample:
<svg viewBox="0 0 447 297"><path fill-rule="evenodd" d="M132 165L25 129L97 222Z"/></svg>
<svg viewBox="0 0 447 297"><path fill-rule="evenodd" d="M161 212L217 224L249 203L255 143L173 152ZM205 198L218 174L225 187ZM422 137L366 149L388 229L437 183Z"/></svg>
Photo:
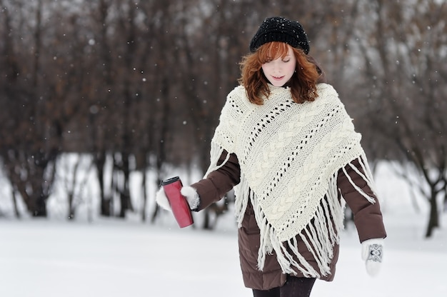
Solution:
<svg viewBox="0 0 447 297"><path fill-rule="evenodd" d="M366 274L348 225L335 280L317 281L311 296L446 296L446 214L444 226L424 239L428 203L416 196L416 211L407 184L388 166L378 167L376 182L388 231L381 274ZM241 279L232 213L215 231L202 231L178 228L169 213L154 225L132 217L89 220L87 203L76 221L67 221L54 215L57 205L57 198L49 201L47 219L0 218L0 296L251 296Z"/></svg>

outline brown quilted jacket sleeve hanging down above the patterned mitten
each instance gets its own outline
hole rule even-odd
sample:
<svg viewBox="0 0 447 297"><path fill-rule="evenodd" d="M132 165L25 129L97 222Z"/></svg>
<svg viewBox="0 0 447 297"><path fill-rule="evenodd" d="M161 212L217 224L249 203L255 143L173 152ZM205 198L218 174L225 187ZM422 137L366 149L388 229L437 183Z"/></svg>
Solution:
<svg viewBox="0 0 447 297"><path fill-rule="evenodd" d="M352 161L351 164L356 166L356 168L363 173L358 160ZM345 199L349 208L351 208L351 211L353 212L353 221L356 225L360 242L371 238L385 238L385 226L383 226L381 207L376 195L373 193L366 181L364 181L363 178L351 168L351 166L348 165L345 169L351 177L353 183L361 188L363 192L367 193L368 196L371 196L376 200L375 203L370 203L367 201L366 198L361 196L361 194L358 193L358 191L353 187L345 173L343 173L342 170L338 171L338 188L340 189L341 195Z"/></svg>

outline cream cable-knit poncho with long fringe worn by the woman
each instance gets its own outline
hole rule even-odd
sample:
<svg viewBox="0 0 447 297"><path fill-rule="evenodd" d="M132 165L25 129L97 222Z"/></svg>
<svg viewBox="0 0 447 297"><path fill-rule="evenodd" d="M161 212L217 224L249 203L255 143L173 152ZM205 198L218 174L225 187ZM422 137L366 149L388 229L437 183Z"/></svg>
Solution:
<svg viewBox="0 0 447 297"><path fill-rule="evenodd" d="M261 270L266 254L274 250L283 273L294 274L298 269L307 277L326 276L343 228L336 180L339 169L344 171L358 158L366 174L351 167L373 188L361 135L354 131L333 87L318 84L317 88L315 101L296 104L290 89L270 85L270 96L259 106L251 104L243 86L238 86L228 94L211 141L211 165L205 176L223 165L217 162L224 150L228 157L229 153L238 157L241 182L234 188L236 218L240 226L250 199L261 230ZM330 217L333 223L328 223ZM300 239L320 271L299 253Z"/></svg>

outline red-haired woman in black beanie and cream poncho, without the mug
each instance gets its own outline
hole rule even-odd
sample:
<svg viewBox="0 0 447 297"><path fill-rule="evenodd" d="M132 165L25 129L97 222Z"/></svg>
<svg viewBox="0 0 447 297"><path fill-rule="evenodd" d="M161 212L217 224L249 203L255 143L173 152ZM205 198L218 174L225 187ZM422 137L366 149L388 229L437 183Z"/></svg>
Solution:
<svg viewBox="0 0 447 297"><path fill-rule="evenodd" d="M309 296L332 281L343 228L354 214L371 275L386 231L361 135L325 83L297 21L263 21L241 61L211 141L211 165L181 193L193 211L234 187L243 281L253 296ZM161 190L160 206L169 209Z"/></svg>

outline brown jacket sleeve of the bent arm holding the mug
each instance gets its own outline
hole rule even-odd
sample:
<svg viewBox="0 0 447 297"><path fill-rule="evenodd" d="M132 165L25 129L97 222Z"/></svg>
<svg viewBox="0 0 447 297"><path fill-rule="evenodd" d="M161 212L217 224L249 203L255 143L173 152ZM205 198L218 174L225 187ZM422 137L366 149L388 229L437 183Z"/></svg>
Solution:
<svg viewBox="0 0 447 297"><path fill-rule="evenodd" d="M218 164L222 163L226 156L227 152L224 151ZM239 183L240 176L241 168L239 168L238 158L234 153L231 153L224 166L209 173L207 178L191 185L191 187L196 188L200 197L200 205L194 211L201 211L212 203L221 200L233 186Z"/></svg>

